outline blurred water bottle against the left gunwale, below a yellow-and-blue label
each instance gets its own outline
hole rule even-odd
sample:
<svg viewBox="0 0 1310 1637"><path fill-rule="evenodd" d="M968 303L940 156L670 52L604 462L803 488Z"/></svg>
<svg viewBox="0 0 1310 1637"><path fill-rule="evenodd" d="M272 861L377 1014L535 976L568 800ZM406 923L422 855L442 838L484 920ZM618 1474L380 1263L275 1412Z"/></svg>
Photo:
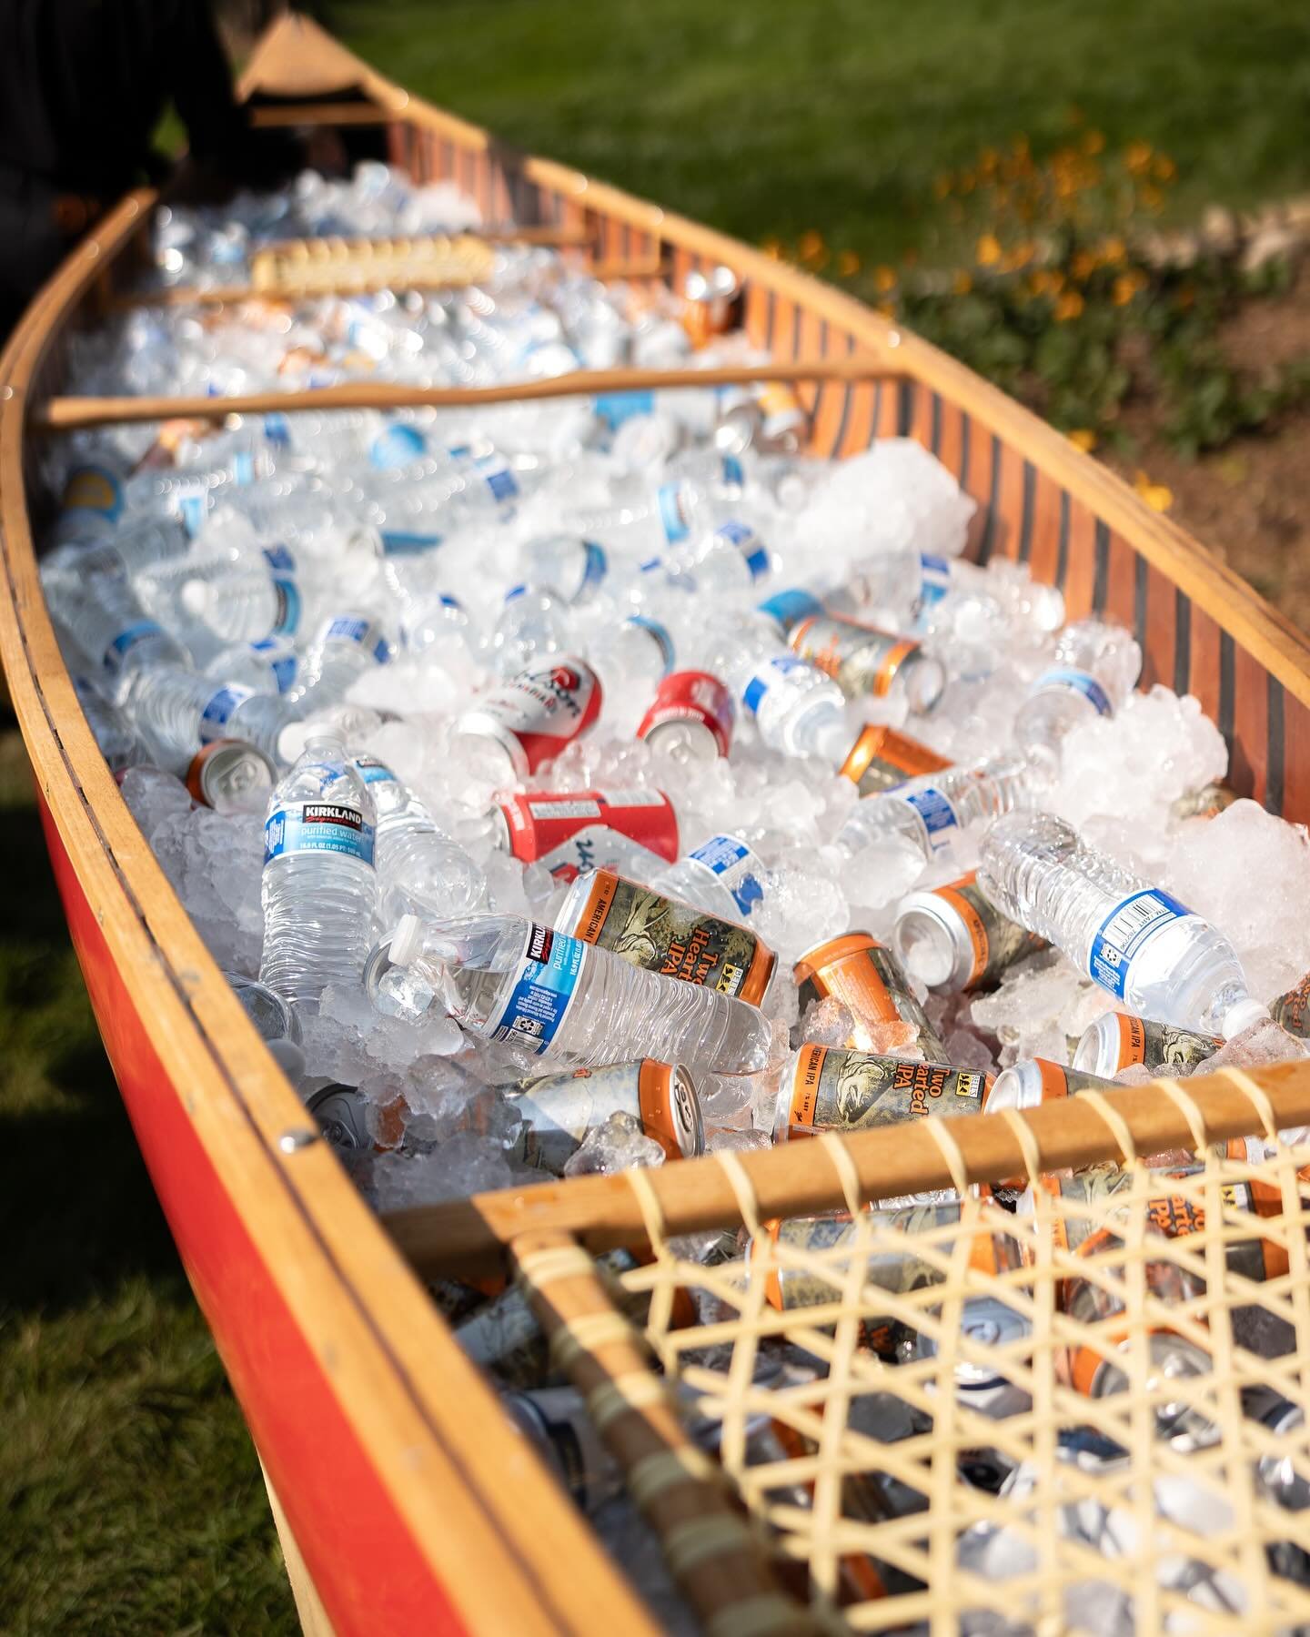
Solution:
<svg viewBox="0 0 1310 1637"><path fill-rule="evenodd" d="M57 573L46 579L44 568L43 579L52 612L115 704L139 673L190 665L187 650L141 606L111 548L84 552L75 584Z"/></svg>

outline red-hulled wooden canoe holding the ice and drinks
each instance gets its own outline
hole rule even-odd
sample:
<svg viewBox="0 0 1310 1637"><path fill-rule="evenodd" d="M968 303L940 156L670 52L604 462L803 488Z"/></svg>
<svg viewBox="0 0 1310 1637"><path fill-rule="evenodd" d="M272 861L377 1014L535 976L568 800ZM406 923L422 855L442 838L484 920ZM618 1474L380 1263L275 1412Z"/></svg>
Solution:
<svg viewBox="0 0 1310 1637"><path fill-rule="evenodd" d="M1071 617L1095 611L1132 627L1143 684L1190 691L1217 720L1233 789L1310 818L1310 643L1176 524L960 363L743 244L513 152L301 18L272 26L242 92L260 123L334 126L414 178L454 180L485 221L534 232L580 265L678 282L730 267L752 337L779 360L776 373L791 367L801 378L817 453L919 439L978 501L979 561L1023 561L1063 588ZM722 1637L812 1629L752 1567L752 1542L732 1537L734 1516L712 1485L693 1478L676 1429L655 1426L653 1411L639 1414L655 1400L630 1383L648 1377L648 1365L604 1324L594 1328L604 1293L598 1308L580 1247L653 1242L663 1254L680 1231L833 1208L856 1193L1159 1152L1271 1121L1295 1126L1310 1121L1310 1071L1210 1076L1189 1080L1186 1095L1117 1092L1025 1121L981 1116L950 1143L928 1131L937 1123L920 1121L896 1144L871 1134L835 1149L815 1143L730 1164L693 1161L640 1185L585 1179L383 1226L314 1139L151 856L82 717L41 599L31 524L47 501L39 432L77 416L57 398L64 337L113 298L154 203L151 192L134 192L100 223L0 359L0 653L105 1048L264 1463L301 1621L342 1637L657 1629L416 1275L513 1264L534 1301L545 1292L547 1328L573 1326L583 1337L575 1352L591 1390L617 1393L619 1441L624 1416L640 1423L629 1427L629 1473L662 1449L678 1468L645 1468L648 1511L666 1545L683 1529L683 1585L709 1629ZM1303 1247L1292 1257L1300 1283L1285 1300L1305 1326ZM1302 1344L1305 1355L1310 1331ZM642 1427L663 1444L642 1445ZM928 1612L945 1617L948 1598L940 1583Z"/></svg>

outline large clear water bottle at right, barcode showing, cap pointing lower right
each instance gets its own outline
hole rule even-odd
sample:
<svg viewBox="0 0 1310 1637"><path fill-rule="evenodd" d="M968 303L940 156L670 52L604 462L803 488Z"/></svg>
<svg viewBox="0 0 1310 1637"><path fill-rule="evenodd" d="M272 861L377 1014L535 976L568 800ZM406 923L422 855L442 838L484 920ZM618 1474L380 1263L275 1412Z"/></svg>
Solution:
<svg viewBox="0 0 1310 1637"><path fill-rule="evenodd" d="M1269 1008L1200 915L1051 814L1010 814L982 838L978 879L997 909L1046 938L1138 1017L1230 1039Z"/></svg>

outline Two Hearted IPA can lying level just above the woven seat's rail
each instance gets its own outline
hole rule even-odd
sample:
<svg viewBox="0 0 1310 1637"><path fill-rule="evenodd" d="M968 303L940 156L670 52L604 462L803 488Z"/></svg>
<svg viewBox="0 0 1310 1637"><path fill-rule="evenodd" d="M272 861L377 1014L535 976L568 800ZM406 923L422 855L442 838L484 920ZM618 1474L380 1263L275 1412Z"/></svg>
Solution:
<svg viewBox="0 0 1310 1637"><path fill-rule="evenodd" d="M817 1131L845 1134L930 1115L976 1115L991 1082L978 1069L801 1046L783 1074L773 1138L784 1143Z"/></svg>

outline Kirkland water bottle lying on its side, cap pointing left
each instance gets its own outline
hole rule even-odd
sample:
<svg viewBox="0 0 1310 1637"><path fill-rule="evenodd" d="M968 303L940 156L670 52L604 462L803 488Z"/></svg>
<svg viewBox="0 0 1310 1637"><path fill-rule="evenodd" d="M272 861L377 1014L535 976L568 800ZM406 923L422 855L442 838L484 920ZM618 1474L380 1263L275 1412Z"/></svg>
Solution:
<svg viewBox="0 0 1310 1637"><path fill-rule="evenodd" d="M406 915L370 956L367 985L380 1010L421 1018L437 1005L486 1039L580 1064L658 1058L757 1074L768 1062L758 1008L517 915Z"/></svg>

